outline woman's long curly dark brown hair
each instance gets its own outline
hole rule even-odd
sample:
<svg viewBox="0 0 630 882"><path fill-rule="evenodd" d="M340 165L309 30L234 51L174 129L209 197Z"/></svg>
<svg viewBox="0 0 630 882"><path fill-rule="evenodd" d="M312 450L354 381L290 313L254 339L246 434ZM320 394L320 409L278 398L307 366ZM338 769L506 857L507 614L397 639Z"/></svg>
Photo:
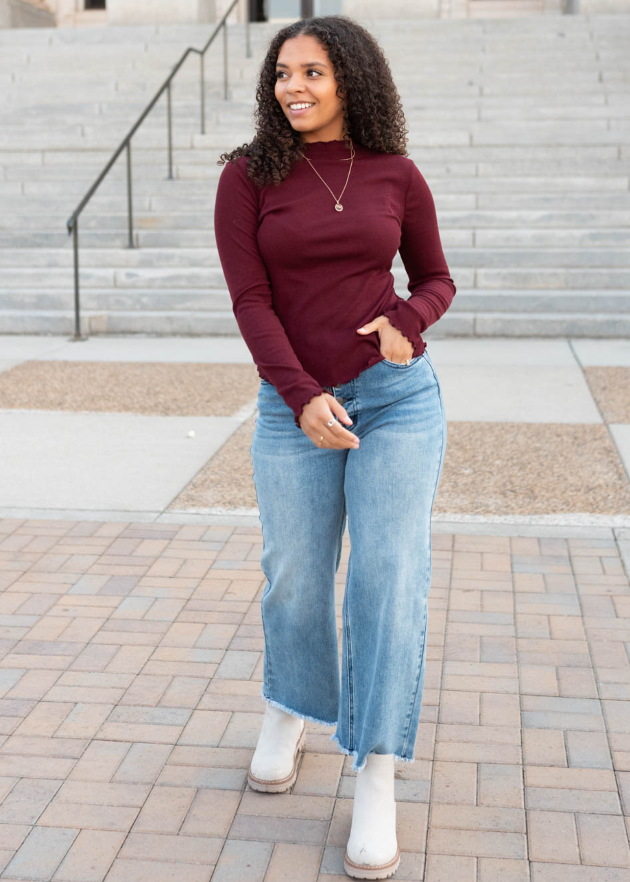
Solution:
<svg viewBox="0 0 630 882"><path fill-rule="evenodd" d="M296 161L304 143L285 116L275 97L276 62L282 43L298 34L315 37L328 53L339 84L344 116L344 139L379 153L407 156L408 130L392 71L376 39L354 19L345 15L324 15L299 19L281 28L269 42L260 66L254 111L256 134L249 144L221 153L217 165L237 162L249 156L247 176L264 187L281 183Z"/></svg>

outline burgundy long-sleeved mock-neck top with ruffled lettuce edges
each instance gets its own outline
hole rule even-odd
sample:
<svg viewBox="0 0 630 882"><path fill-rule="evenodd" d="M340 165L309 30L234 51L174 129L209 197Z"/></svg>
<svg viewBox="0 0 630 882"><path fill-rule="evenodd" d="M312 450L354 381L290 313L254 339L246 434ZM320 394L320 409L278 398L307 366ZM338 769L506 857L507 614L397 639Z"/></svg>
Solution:
<svg viewBox="0 0 630 882"><path fill-rule="evenodd" d="M236 322L259 376L275 386L298 428L304 405L324 386L346 383L385 357L379 334L358 328L386 315L421 355L422 333L456 291L431 191L414 161L354 146L341 212L305 160L260 189L242 156L226 163L217 187L214 235ZM339 197L346 143L313 141L303 150ZM409 275L407 300L390 272L397 250Z"/></svg>

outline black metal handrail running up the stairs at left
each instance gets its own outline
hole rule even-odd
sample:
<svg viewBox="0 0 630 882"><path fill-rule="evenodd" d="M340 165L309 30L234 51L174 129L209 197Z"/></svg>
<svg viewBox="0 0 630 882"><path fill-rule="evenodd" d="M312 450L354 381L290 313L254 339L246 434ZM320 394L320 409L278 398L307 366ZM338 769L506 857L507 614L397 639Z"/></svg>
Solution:
<svg viewBox="0 0 630 882"><path fill-rule="evenodd" d="M179 59L175 67L170 71L169 76L164 80L160 88L154 94L154 97L149 101L146 105L146 108L142 111L138 119L131 126L131 129L124 136L120 145L116 147L114 153L112 153L111 159L101 171L101 174L96 178L90 189L86 192L86 195L79 202L79 206L77 206L74 212L71 214L70 219L66 222L66 227L68 228L68 235L72 234L73 248L74 248L74 336L71 337L71 340L87 340L86 336L81 335L80 328L80 319L79 319L79 214L86 207L89 200L94 196L94 192L97 190L103 178L109 172L109 169L114 165L120 154L126 149L127 152L127 227L129 234L129 243L128 248L135 248L136 246L133 244L133 216L131 211L131 138L135 134L135 132L139 129L140 123L143 123L145 117L147 116L149 110L154 107L155 102L161 97L163 92L167 93L167 126L168 126L168 135L169 135L169 175L167 179L173 179L173 133L172 133L172 116L171 116L171 95L170 95L170 84L171 80L175 77L176 72L180 69L182 64L186 58L191 54L195 54L199 56L199 86L200 86L200 99L201 99L201 134L206 134L206 85L204 80L204 57L206 56L207 49L210 48L214 41L214 37L223 30L223 100L228 100L228 30L226 19L229 16L229 13L234 9L239 0L232 0L232 3L229 4L228 9L223 14L221 21L214 28L213 33L208 38L206 45L203 49L195 49L193 46L189 46L188 49L185 50L182 57ZM247 58L251 58L251 44L250 44L250 10L249 10L249 0L245 0L245 56Z"/></svg>

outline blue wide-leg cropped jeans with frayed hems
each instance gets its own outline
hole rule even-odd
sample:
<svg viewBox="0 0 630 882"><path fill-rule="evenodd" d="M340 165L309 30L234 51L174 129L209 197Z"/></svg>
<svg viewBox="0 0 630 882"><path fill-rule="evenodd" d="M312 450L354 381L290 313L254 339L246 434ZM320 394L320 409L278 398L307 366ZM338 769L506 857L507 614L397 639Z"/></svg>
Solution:
<svg viewBox="0 0 630 882"><path fill-rule="evenodd" d="M346 408L358 450L317 447L275 386L259 388L250 452L266 576L262 696L335 726L331 740L360 771L371 752L414 761L446 414L426 349L326 392ZM340 666L334 577L346 523Z"/></svg>

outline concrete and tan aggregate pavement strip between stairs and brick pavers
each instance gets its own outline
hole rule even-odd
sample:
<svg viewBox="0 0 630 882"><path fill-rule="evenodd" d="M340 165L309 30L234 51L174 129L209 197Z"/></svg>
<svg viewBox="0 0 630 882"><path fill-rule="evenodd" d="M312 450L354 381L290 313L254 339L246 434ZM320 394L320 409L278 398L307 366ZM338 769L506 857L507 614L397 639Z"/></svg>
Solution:
<svg viewBox="0 0 630 882"><path fill-rule="evenodd" d="M630 341L428 348L448 420L436 519L630 526ZM5 336L0 355L0 515L257 514L240 338Z"/></svg>

